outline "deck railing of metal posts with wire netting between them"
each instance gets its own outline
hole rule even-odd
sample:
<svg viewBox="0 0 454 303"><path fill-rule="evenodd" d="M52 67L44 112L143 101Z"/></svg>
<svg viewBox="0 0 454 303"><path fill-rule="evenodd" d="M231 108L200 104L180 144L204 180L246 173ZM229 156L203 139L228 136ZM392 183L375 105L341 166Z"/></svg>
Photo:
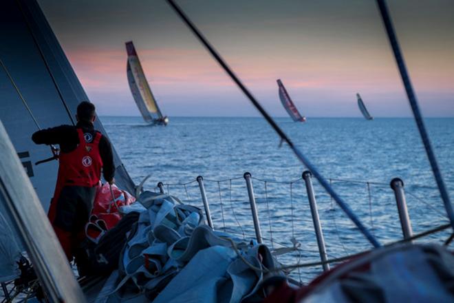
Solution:
<svg viewBox="0 0 454 303"><path fill-rule="evenodd" d="M260 183L263 185L263 189L259 190L259 195L254 191L254 182L257 182L258 185ZM385 182L345 180L339 178L329 179L329 182L332 185L343 187L349 185L350 187L356 186L364 189L367 196L365 199L364 196L361 199L363 201L360 204L360 211L365 216L369 212L369 228L372 232L377 233L380 228L389 229L389 231L392 231L393 236L383 236L388 242L389 240L401 240L401 238L396 238L398 229L402 230L404 239L408 240L413 236L404 183L399 178L394 178L391 181L392 190L390 189L390 184ZM210 185L207 185L208 183ZM274 188L273 195L270 195L270 185L276 187ZM245 187L246 190L244 190ZM288 192L286 192L286 187L288 187ZM413 189L418 188L415 185L412 187ZM261 187L258 188L261 189ZM296 189L298 189L298 194L296 194ZM380 191L381 198L377 200L387 203L385 207L387 213L378 211L378 219L374 218L373 215L374 198L372 189ZM309 272L312 273L310 276L320 273L321 270L327 271L329 269L329 259L335 259L334 255L338 254L339 251L343 251L344 255L351 255L352 253L358 253L358 249L360 251L369 249L367 244L354 247L353 242L356 240L354 240L354 236L352 236L354 233L351 231L354 227L348 225L347 220L337 218L336 215L340 215L340 212L335 209L332 200L330 200L331 207L326 207L328 196L322 190L319 191L321 194L317 194L316 186L312 184L312 174L310 174L310 171L304 171L301 178L290 181L263 180L253 177L248 172L242 178L237 177L223 180L210 180L202 176L197 176L195 180L186 183L159 182L155 190L159 190L162 193L166 192L167 194L186 196L186 202L189 202L189 204L196 204L201 208L203 207L206 222L210 227L232 233L245 240L247 238L254 238L259 243L264 242L269 244L274 255L279 257L279 261L294 263L294 259L296 258L297 262L300 263L302 258L312 258L314 260L316 255L318 255L321 262L319 262L318 269L313 268ZM194 194L191 196L189 194L190 192L191 194L195 192L196 198L194 198ZM282 198L287 193L290 194L290 201ZM386 197L384 198L384 196ZM394 198L392 198L393 196ZM307 198L307 202L305 202L305 198ZM322 201L323 209L321 214L325 218L320 217L317 200ZM396 201L396 212L389 211L388 205L391 207L393 200ZM418 203L424 202L424 199L418 198L415 194L411 194L411 200L412 202ZM367 204L369 204L368 210ZM424 204L426 207L434 210L429 203L425 202ZM266 209L263 209L262 205L266 205ZM289 209L289 205L290 213L284 213L284 210L287 211ZM376 208L378 207L376 206ZM214 212L212 213L212 211ZM248 212L250 213L249 215ZM229 216L229 213L232 216ZM393 216L394 213L398 214L398 218ZM442 211L437 211L437 215L441 215L440 218L443 217L446 220L445 216L442 216ZM239 219L239 216L241 216L242 220L241 218ZM387 216L391 216L394 220L386 220L382 224L377 224L378 220L381 221L383 218L387 218ZM310 224L310 221L307 221L307 218L312 219L310 220L312 224ZM263 222L268 222L263 224L260 222L260 219ZM280 221L283 221L283 223ZM394 223L399 224L400 228L396 227ZM263 229L263 226L267 224L268 231ZM334 232L330 231L327 234L325 231L324 233L323 224L331 226ZM303 233L314 233L316 247L310 241L302 241L305 244L304 246L301 244L299 240L304 238L304 235L301 236L302 233L295 229L295 225L298 225L297 229L303 227ZM312 227L308 229L307 227L310 225ZM339 229L343 229L344 233L340 233ZM345 229L349 233L345 234ZM262 230L265 231L265 234L262 233ZM289 236L288 233L291 233L291 235ZM277 237L278 235L286 239L281 240ZM337 236L337 241L333 238L333 235ZM329 245L325 242L327 236L329 236ZM349 242L350 245L345 245L344 242ZM331 247L331 253L329 253L329 247ZM299 267L296 267L296 269L298 272L294 273L293 278L299 278L302 281ZM310 277L307 277L304 280L309 279Z"/></svg>

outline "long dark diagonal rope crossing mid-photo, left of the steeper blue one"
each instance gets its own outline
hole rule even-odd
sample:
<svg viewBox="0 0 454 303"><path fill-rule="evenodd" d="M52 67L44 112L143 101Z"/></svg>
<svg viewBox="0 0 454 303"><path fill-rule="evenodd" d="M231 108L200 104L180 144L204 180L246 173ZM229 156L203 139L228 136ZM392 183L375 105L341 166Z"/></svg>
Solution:
<svg viewBox="0 0 454 303"><path fill-rule="evenodd" d="M244 86L244 84L241 83L241 81L233 73L233 71L230 69L230 67L228 67L228 65L224 61L224 59L222 59L221 56L217 53L217 51L213 48L213 46L210 45L208 40L195 27L195 25L192 23L192 21L188 19L188 17L186 16L186 14L184 14L182 9L179 6L177 6L175 1L173 1L173 0L166 0L166 1L170 4L170 6L173 8L173 10L175 10L175 12L180 16L180 18L184 21L184 23L186 23L188 28L191 29L193 34L195 34L195 36L197 36L199 41L206 47L208 52L210 52L210 54L215 58L217 63L219 63L219 65L221 65L221 67L224 68L226 73L238 85L240 90L249 98L250 102L255 106L255 108L257 108L257 110L259 110L259 112L261 113L263 118L266 119L266 121L271 125L271 127L274 129L274 131L277 132L277 134L281 137L281 140L284 140L289 145L290 149L292 149L292 151L294 152L296 157L299 158L299 160L305 165L305 167L307 167L307 169L309 169L312 172L314 177L318 180L318 182L320 182L320 184L328 192L328 194L334 198L334 200L339 205L339 207L345 212L345 214L350 218L350 220L352 220L354 222L356 227L358 227L358 229L361 231L361 233L363 233L363 235L367 238L367 240L369 240L369 242L371 242L371 244L374 245L374 247L380 247L381 246L380 243L376 240L376 238L374 238L374 236L372 236L372 234L369 232L369 230L366 229L364 224L362 222L360 222L360 220L358 219L358 217L356 217L356 215L354 214L352 209L350 209L350 207L343 201L343 199L340 198L340 196L338 196L338 194L336 194L334 189L332 189L332 187L329 186L329 183L325 180L325 178L323 178L323 176L321 176L321 174L318 173L318 170L316 169L316 167L314 167L314 165L312 165L312 163L310 163L310 161L303 155L303 153L297 147L294 146L294 144L292 143L290 138L288 138L288 136L282 131L282 129L274 122L274 120L265 111L265 109L263 109L263 107L261 107L260 103L255 99L254 96L252 96L252 94L249 92L249 90L246 88L246 86Z"/></svg>

